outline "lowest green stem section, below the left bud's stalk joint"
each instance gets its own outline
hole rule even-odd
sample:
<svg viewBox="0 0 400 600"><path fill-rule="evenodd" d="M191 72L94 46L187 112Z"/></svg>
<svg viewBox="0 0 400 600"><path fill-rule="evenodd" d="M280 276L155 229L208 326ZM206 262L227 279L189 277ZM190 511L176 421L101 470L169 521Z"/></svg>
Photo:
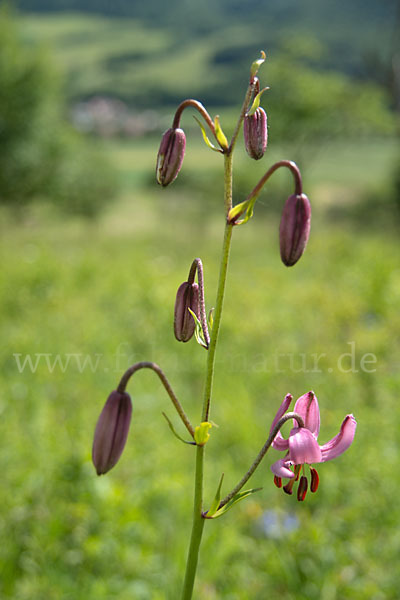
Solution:
<svg viewBox="0 0 400 600"><path fill-rule="evenodd" d="M188 558L186 562L185 581L183 583L182 600L191 600L193 594L194 580L196 577L197 563L199 559L199 550L201 538L203 535L205 519L203 512L203 465L204 465L204 446L197 446L196 449L196 472L194 484L194 504L193 504L193 523L192 534L190 536L190 545Z"/></svg>

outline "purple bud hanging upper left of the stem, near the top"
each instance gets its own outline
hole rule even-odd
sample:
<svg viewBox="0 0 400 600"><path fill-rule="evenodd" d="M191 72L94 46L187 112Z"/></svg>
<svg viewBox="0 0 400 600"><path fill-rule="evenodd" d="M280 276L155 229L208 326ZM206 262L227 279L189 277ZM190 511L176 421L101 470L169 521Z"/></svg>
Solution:
<svg viewBox="0 0 400 600"><path fill-rule="evenodd" d="M185 156L186 137L183 129L167 129L157 154L156 178L162 186L176 179Z"/></svg>

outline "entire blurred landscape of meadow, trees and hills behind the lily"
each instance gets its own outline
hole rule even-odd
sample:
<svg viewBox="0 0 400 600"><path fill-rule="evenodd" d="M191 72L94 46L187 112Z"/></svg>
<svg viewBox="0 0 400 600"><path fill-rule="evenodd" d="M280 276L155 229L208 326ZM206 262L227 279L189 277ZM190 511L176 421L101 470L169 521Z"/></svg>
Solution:
<svg viewBox="0 0 400 600"><path fill-rule="evenodd" d="M234 232L217 354L206 499L228 492L287 392L314 389L320 442L346 413L353 446L304 503L272 482L208 523L197 598L398 598L400 509L400 4L397 0L21 0L0 10L0 596L176 600L192 512L193 449L151 372L129 386L126 451L98 478L92 434L138 360L158 362L193 423L205 352L174 340L191 261L215 299L222 158L190 111L178 180L161 189L162 132L187 97L232 134L261 49L269 146L239 138L234 201L281 158L313 207L291 269L277 173Z"/></svg>

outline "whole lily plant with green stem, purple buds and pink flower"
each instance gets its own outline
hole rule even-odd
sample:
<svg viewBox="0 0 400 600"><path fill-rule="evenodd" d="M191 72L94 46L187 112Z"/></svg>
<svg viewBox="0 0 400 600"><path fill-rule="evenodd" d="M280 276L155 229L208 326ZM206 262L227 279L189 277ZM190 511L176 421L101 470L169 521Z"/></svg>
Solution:
<svg viewBox="0 0 400 600"><path fill-rule="evenodd" d="M205 447L210 438L209 431L212 427L210 411L213 399L215 355L221 326L233 231L252 218L255 202L264 185L278 169L284 168L289 171L294 182L293 194L289 196L284 204L279 228L280 255L284 265L291 267L297 263L306 248L310 234L311 206L308 197L303 193L299 168L293 161L280 160L273 164L266 170L263 177L261 177L260 181L258 181L243 201L236 204L233 203L232 158L242 125L244 129L245 148L250 158L254 160L262 159L267 147L267 114L260 106L260 101L262 94L268 88L260 89L260 82L257 77L259 68L265 61L265 58L265 53L262 52L261 58L254 61L251 65L249 84L236 127L230 140L227 139L222 130L218 116L212 119L200 102L188 99L178 106L172 127L162 137L157 156L156 179L161 186L165 187L176 179L183 164L186 150L186 136L184 130L180 127L180 121L183 112L191 108L197 111L200 117L200 119L197 117L195 119L200 126L205 143L214 152L221 154L224 161L225 229L215 308L207 315L203 264L199 258L192 261L188 277L179 286L175 298L173 327L176 339L185 343L195 337L197 342L207 352L200 422L198 425L192 425L190 418L187 416L159 365L153 362L139 362L132 365L122 375L116 390L109 395L98 419L94 434L92 458L97 474L102 475L116 465L128 437L132 402L126 388L131 377L137 371L144 368L151 369L156 373L187 430L189 440L183 439L175 431L170 419L164 415L168 425L179 439L194 448L195 454L192 531L182 586L182 600L190 600L193 595L200 544L205 524L221 517L237 502L258 491L258 489L254 488L243 488L271 446L276 450L285 452L285 456L271 467L275 484L278 487L282 487L282 479L288 480L283 489L288 494L292 494L294 483L300 478L297 499L303 501L308 489L307 469L310 472L310 490L311 492L316 492L319 476L312 465L329 461L342 454L351 445L356 430L356 421L353 415L347 415L344 418L339 433L332 440L320 446L318 443L320 412L314 392L310 391L301 396L295 403L293 411L289 411L293 398L290 394L287 394L275 418L272 420L268 439L259 450L242 479L229 493L222 496L223 477L221 477L214 500L209 506L206 506L204 503ZM195 281L196 278L197 281ZM293 427L289 433L289 437L285 439L280 430L288 420L293 421ZM301 472L303 474L300 477Z"/></svg>

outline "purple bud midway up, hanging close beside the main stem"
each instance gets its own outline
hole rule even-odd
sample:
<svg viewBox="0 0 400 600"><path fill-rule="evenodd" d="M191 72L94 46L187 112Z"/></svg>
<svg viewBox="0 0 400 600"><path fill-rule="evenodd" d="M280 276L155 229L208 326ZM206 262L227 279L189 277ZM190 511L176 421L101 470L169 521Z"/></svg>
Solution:
<svg viewBox="0 0 400 600"><path fill-rule="evenodd" d="M174 333L178 342L188 342L196 328L189 308L200 318L199 286L185 281L179 286L175 300Z"/></svg>

